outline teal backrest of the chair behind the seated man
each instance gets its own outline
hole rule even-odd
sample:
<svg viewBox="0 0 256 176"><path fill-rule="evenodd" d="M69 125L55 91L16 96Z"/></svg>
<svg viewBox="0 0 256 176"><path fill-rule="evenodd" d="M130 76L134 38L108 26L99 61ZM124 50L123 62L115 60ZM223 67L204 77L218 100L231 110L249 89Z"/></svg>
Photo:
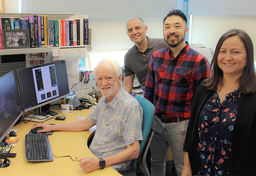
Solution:
<svg viewBox="0 0 256 176"><path fill-rule="evenodd" d="M140 142L140 154L141 154L141 152L144 149L145 144L147 142L150 131L151 131L151 126L152 126L153 119L155 116L155 107L150 101L148 101L147 99L145 99L139 95L135 96L135 99L137 99L140 102L140 106L143 109L143 124L142 124L143 141ZM136 172L138 172L137 171L137 162L138 162L138 159L140 158L140 154L137 159L132 161L132 168Z"/></svg>

